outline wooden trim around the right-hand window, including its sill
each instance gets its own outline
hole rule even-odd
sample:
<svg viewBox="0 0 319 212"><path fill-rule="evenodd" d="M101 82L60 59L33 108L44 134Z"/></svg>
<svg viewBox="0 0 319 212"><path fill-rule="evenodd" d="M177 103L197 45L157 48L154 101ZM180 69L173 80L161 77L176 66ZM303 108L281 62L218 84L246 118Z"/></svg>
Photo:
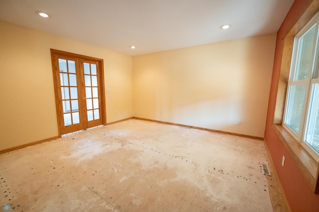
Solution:
<svg viewBox="0 0 319 212"><path fill-rule="evenodd" d="M294 46L294 37L319 10L319 0L310 1L296 17L284 37L273 129L290 152L296 165L315 194L319 194L319 163L282 125Z"/></svg>

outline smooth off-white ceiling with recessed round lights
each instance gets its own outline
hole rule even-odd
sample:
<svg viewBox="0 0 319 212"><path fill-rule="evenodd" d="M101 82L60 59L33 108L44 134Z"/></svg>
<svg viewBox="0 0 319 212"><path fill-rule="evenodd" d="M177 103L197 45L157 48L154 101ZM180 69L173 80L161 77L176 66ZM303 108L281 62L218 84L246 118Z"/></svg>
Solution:
<svg viewBox="0 0 319 212"><path fill-rule="evenodd" d="M140 55L276 33L294 0L0 0L0 19ZM47 12L50 18L35 11ZM231 24L227 30L223 24ZM136 49L129 46L135 45Z"/></svg>

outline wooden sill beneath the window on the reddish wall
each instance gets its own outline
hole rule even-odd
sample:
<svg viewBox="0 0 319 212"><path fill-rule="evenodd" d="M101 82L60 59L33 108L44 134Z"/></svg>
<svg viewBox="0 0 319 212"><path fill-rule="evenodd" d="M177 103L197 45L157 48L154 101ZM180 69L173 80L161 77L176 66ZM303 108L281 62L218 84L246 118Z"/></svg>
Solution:
<svg viewBox="0 0 319 212"><path fill-rule="evenodd" d="M273 124L273 128L286 149L294 158L296 165L306 178L312 191L319 194L318 167L319 163L307 152L307 150L282 126Z"/></svg>

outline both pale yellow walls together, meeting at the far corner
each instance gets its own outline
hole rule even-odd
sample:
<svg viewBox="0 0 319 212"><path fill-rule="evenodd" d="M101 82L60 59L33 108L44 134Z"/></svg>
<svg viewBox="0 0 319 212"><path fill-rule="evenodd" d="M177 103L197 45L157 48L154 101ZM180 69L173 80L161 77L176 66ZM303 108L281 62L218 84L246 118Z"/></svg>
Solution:
<svg viewBox="0 0 319 212"><path fill-rule="evenodd" d="M58 135L50 48L104 59L107 122L264 136L275 34L132 58L4 21L0 31L0 150Z"/></svg>

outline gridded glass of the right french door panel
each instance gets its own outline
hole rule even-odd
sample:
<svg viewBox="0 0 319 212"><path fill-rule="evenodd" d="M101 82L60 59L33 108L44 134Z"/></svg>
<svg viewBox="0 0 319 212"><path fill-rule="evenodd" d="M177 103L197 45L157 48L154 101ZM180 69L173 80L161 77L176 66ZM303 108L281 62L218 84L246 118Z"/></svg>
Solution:
<svg viewBox="0 0 319 212"><path fill-rule="evenodd" d="M97 120L100 118L100 113L96 64L83 63L83 67L88 121Z"/></svg>

